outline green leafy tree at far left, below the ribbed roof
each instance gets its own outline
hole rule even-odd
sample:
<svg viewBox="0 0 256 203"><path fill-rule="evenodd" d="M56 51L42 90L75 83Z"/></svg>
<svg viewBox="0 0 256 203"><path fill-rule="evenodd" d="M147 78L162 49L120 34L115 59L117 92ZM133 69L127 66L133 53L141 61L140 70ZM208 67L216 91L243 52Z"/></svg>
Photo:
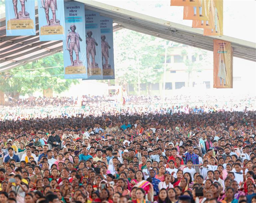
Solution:
<svg viewBox="0 0 256 203"><path fill-rule="evenodd" d="M63 74L63 54L57 53L1 73L0 90L11 96L32 94L48 88L61 93L68 90L71 84L79 83L77 79L64 79Z"/></svg>

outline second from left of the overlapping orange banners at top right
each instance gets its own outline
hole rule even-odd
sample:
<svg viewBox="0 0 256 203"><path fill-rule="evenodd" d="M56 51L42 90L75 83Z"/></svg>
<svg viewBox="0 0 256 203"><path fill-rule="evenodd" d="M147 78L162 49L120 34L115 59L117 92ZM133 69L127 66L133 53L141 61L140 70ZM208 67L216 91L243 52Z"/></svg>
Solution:
<svg viewBox="0 0 256 203"><path fill-rule="evenodd" d="M183 19L184 20L200 20L208 21L210 13L210 0L202 0L201 6L184 6Z"/></svg>

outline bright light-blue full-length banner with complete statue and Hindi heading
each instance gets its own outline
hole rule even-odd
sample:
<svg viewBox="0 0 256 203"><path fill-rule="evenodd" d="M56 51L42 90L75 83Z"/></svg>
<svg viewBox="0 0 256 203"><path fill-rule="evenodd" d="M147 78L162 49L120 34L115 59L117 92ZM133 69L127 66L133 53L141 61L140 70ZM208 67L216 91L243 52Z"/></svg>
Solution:
<svg viewBox="0 0 256 203"><path fill-rule="evenodd" d="M87 78L84 4L76 1L66 2L64 14L64 78Z"/></svg>

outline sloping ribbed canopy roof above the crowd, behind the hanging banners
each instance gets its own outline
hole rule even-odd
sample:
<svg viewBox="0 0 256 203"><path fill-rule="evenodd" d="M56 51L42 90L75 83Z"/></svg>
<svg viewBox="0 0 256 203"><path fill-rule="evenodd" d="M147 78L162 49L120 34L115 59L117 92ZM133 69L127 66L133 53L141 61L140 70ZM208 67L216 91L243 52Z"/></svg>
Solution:
<svg viewBox="0 0 256 203"><path fill-rule="evenodd" d="M170 41L213 51L213 39L231 42L234 57L256 61L256 44L229 36L203 36L203 30L165 21L97 1L83 1L86 10L93 10L113 19L113 31L131 29ZM0 19L0 72L53 55L63 50L62 41L40 41L36 2L36 35L6 36L5 14Z"/></svg>

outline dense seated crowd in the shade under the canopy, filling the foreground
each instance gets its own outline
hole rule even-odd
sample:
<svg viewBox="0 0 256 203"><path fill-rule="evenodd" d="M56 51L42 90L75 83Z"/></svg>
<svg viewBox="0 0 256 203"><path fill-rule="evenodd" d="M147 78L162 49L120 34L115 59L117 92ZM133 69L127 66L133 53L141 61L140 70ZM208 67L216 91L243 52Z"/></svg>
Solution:
<svg viewBox="0 0 256 203"><path fill-rule="evenodd" d="M255 203L256 111L186 107L2 119L0 202Z"/></svg>

